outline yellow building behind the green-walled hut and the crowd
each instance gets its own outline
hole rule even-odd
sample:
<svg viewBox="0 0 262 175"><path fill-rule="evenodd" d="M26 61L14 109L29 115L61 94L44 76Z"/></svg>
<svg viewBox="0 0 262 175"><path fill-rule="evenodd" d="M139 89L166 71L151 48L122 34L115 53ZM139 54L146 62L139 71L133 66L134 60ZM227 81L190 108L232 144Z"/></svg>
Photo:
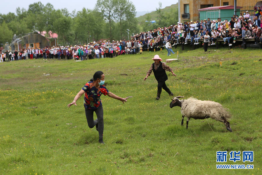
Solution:
<svg viewBox="0 0 262 175"><path fill-rule="evenodd" d="M262 1L257 0L236 0L236 3L242 7L240 13L249 10L250 14L253 14L255 6L262 7ZM200 8L228 5L234 6L234 0L178 0L178 21L199 20Z"/></svg>

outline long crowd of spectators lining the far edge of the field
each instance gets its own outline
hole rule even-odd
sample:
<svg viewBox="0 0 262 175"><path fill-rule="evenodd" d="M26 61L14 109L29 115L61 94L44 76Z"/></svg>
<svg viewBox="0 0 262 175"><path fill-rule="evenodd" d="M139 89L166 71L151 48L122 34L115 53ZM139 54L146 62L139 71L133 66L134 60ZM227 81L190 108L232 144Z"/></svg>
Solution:
<svg viewBox="0 0 262 175"><path fill-rule="evenodd" d="M252 17L252 18L251 18ZM131 40L100 41L85 45L28 48L20 51L15 50L0 54L0 62L26 60L26 59L66 59L66 60L88 60L94 58L116 57L122 54L142 53L143 50L165 47L168 56L171 55L172 46L176 44L199 44L203 39L205 51L207 46L214 45L217 39L223 39L224 44L231 46L236 38L242 38L245 44L248 38L253 38L255 44L262 43L261 37L262 12L260 7L254 10L251 16L248 11L233 15L231 20L200 20L178 22L169 27L158 27L150 31L136 34Z"/></svg>

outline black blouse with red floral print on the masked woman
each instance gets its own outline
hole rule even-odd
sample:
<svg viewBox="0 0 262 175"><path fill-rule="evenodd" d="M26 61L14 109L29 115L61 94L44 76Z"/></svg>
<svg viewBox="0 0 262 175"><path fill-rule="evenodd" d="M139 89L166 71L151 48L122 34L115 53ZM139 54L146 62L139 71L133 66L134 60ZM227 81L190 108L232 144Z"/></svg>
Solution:
<svg viewBox="0 0 262 175"><path fill-rule="evenodd" d="M98 89L95 88L93 81L86 83L82 90L85 91L84 106L86 109L97 109L99 106L102 106L100 96L102 94L107 95L109 92L104 85L100 85ZM91 97L93 99L90 99Z"/></svg>

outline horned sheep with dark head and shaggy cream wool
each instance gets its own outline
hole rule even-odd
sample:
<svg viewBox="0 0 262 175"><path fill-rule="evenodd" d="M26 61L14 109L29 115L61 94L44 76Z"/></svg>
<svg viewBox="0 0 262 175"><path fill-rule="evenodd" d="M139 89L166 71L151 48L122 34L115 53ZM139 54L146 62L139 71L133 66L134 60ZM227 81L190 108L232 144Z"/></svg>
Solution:
<svg viewBox="0 0 262 175"><path fill-rule="evenodd" d="M213 118L215 120L223 122L226 125L226 129L232 132L230 124L227 121L231 118L231 114L227 111L227 108L224 108L221 104L215 101L202 101L191 97L186 100L179 100L180 97L182 96L174 97L169 106L170 108L173 108L174 106L181 107L181 125L183 125L184 123L184 117L187 117L187 127L190 118Z"/></svg>

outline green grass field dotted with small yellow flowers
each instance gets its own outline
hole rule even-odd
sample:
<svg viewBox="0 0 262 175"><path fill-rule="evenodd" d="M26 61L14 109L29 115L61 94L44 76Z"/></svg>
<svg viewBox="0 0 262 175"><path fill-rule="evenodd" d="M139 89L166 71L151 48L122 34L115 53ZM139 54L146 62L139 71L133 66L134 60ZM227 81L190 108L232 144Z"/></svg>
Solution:
<svg viewBox="0 0 262 175"><path fill-rule="evenodd" d="M175 49L173 49L176 51ZM22 60L0 64L0 174L262 174L261 50L179 50L167 63L167 86L175 96L212 100L229 108L233 132L213 119L181 126L180 107L157 82L146 81L151 58L162 52L75 62ZM219 66L222 61L222 67ZM67 108L97 70L106 87L128 102L102 97L104 142L86 122L83 99ZM50 75L47 75L50 74ZM37 108L33 108L37 107ZM216 162L216 151L228 151ZM229 161L241 151L241 161ZM254 151L254 162L242 162ZM218 170L216 164L253 164L254 169Z"/></svg>

